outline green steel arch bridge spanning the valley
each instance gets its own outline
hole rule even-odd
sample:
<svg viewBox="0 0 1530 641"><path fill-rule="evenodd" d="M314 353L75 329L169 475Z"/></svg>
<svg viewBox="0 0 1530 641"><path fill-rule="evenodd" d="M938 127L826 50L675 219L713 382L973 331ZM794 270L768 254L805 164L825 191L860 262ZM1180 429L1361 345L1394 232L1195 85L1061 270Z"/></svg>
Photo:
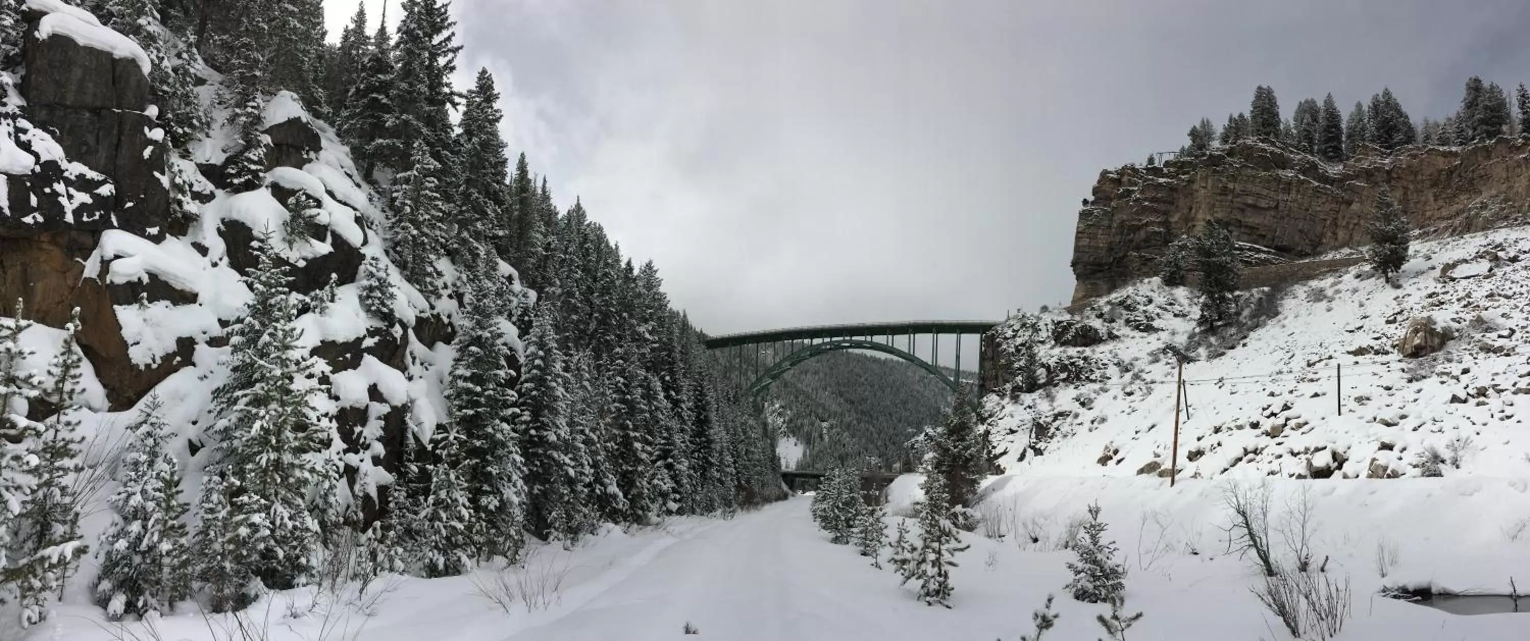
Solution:
<svg viewBox="0 0 1530 641"><path fill-rule="evenodd" d="M770 329L763 332L728 334L707 337L704 344L711 352L734 350L733 367L734 382L741 392L753 398L760 398L767 389L793 367L800 366L812 356L848 349L880 352L903 361L912 363L939 379L953 393L961 386L979 386L981 390L998 387L998 344L993 329L1001 321L904 321L904 323L864 323L864 324L825 324L812 327ZM979 337L975 376L962 369L962 337ZM956 337L955 367L947 373L939 367L941 337ZM929 355L921 358L920 352ZM972 361L968 361L972 363ZM979 395L970 396L976 404Z"/></svg>

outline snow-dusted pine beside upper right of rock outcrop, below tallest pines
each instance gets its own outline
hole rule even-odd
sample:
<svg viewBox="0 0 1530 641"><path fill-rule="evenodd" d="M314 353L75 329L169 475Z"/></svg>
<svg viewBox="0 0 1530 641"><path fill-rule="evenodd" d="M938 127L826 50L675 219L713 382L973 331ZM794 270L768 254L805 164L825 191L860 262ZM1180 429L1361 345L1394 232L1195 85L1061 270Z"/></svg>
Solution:
<svg viewBox="0 0 1530 641"><path fill-rule="evenodd" d="M422 292L436 292L441 272L436 260L447 243L447 199L441 194L441 165L430 155L424 141L415 141L410 153L413 164L398 174L393 184L393 217L389 220L389 240L393 262L404 277Z"/></svg>

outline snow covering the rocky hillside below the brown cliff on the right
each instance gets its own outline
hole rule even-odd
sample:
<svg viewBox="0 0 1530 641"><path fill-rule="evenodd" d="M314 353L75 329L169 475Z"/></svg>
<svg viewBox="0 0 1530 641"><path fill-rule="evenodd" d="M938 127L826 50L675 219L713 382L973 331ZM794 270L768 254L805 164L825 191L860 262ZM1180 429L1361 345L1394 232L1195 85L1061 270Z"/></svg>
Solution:
<svg viewBox="0 0 1530 641"><path fill-rule="evenodd" d="M1389 474L1417 477L1426 448L1447 451L1452 444L1463 456L1446 476L1530 474L1530 415L1522 405L1530 401L1530 229L1414 243L1412 255L1398 288L1356 266L1268 294L1278 315L1226 353L1187 363L1181 476L1293 477L1316 470L1337 482L1365 477L1375 462ZM1493 269L1473 278L1440 274L1447 265L1478 262ZM1126 311L1132 306L1138 312ZM1079 318L1118 338L1048 350L1097 358L1100 379L1013 402L990 396L1005 451L1001 465L1039 476L1135 476L1152 460L1169 467L1175 369L1163 346L1192 340L1195 306L1193 291L1151 278L1082 311ZM1129 327L1134 314L1160 330ZM1401 358L1392 346L1414 317L1431 317L1457 338L1440 353ZM1033 445L1033 421L1050 424L1050 434L1034 442L1040 454L1022 460Z"/></svg>

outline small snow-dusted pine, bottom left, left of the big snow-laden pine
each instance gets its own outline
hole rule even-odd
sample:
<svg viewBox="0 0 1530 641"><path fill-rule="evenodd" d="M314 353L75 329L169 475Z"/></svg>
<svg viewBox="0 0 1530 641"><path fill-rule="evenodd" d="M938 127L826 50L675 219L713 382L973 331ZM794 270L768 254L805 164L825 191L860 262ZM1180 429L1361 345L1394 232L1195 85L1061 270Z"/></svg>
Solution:
<svg viewBox="0 0 1530 641"><path fill-rule="evenodd" d="M101 534L96 604L107 617L170 613L191 595L191 558L182 517L181 470L168 450L170 424L150 396L132 425L122 485L107 499L116 522Z"/></svg>

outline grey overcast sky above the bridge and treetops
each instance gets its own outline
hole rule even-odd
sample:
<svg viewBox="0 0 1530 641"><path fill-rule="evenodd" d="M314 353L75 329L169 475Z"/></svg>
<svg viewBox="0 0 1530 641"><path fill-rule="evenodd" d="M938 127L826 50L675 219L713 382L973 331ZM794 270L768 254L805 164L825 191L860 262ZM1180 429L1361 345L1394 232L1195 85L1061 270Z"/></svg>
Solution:
<svg viewBox="0 0 1530 641"><path fill-rule="evenodd" d="M373 20L381 0L366 0ZM356 0L327 0L330 37ZM1271 84L1440 118L1524 0L456 0L459 84L710 334L1066 301L1079 200ZM389 18L396 23L398 0ZM375 21L373 21L375 24Z"/></svg>

